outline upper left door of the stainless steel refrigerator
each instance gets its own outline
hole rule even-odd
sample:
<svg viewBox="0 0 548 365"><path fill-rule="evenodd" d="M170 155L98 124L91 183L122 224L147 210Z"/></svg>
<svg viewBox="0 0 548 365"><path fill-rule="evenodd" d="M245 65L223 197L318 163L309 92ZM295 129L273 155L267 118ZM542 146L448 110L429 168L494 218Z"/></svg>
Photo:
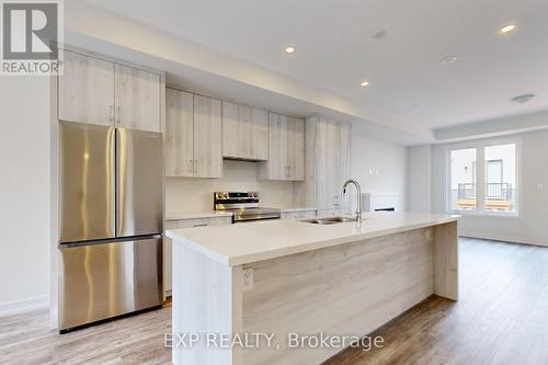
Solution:
<svg viewBox="0 0 548 365"><path fill-rule="evenodd" d="M115 128L59 122L59 242L115 237Z"/></svg>

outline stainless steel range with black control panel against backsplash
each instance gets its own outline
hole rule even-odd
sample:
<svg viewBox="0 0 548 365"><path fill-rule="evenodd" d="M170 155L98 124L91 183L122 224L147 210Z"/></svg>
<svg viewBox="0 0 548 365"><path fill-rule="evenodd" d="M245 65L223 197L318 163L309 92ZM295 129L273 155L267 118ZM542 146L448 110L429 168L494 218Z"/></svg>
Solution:
<svg viewBox="0 0 548 365"><path fill-rule="evenodd" d="M282 216L278 208L259 206L259 192L215 192L213 197L215 210L233 213L232 223L278 219Z"/></svg>

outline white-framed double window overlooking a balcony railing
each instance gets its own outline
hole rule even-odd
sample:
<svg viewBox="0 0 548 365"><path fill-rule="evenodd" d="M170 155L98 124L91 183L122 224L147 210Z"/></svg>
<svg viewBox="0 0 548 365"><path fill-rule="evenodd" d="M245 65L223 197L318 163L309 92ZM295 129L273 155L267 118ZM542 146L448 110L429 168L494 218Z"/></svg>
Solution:
<svg viewBox="0 0 548 365"><path fill-rule="evenodd" d="M448 210L517 214L517 142L450 149L447 163Z"/></svg>

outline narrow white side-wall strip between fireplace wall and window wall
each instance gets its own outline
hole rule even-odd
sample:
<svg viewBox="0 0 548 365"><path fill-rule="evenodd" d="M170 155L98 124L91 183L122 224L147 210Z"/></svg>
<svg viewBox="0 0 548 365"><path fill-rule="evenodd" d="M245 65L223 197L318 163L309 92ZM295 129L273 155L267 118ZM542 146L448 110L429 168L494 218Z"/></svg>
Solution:
<svg viewBox="0 0 548 365"><path fill-rule="evenodd" d="M432 146L408 147L407 208L409 212L431 210Z"/></svg>

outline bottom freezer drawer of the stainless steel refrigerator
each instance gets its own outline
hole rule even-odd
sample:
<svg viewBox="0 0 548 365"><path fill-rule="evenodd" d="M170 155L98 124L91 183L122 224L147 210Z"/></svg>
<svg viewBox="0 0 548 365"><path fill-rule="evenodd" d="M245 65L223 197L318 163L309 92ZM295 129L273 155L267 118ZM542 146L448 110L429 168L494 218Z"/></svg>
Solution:
<svg viewBox="0 0 548 365"><path fill-rule="evenodd" d="M162 239L60 246L59 329L162 304Z"/></svg>

